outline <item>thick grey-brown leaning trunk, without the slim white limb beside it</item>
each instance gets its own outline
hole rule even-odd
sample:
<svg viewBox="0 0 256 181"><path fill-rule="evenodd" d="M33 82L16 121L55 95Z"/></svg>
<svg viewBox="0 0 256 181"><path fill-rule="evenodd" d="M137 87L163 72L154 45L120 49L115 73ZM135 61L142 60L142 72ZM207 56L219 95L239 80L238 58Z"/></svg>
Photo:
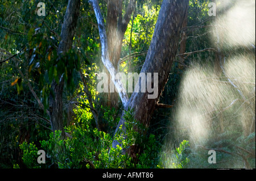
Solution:
<svg viewBox="0 0 256 181"><path fill-rule="evenodd" d="M126 104L125 110L128 110L129 107L131 109L134 108L134 118L140 121L146 128L150 125L159 96L164 90L170 74L187 8L188 0L163 0L150 48L141 70L141 73L158 73L158 96L155 99L148 99L147 88L146 92L133 92L129 102ZM136 86L140 85L141 82L138 82ZM151 86L155 86L154 81L151 82ZM122 117L115 133L117 133L120 125L124 123L125 120ZM122 127L122 129L125 129L125 127ZM116 148L117 145L120 145L119 142L113 141L113 148ZM134 145L130 146L129 150L126 151L132 157L135 157L139 149Z"/></svg>

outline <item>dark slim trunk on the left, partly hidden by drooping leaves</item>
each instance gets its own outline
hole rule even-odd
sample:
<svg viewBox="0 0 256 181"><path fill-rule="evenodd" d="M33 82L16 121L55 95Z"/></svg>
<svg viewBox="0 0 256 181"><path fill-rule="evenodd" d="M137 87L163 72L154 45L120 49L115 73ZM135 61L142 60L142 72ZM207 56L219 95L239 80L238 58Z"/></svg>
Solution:
<svg viewBox="0 0 256 181"><path fill-rule="evenodd" d="M77 18L79 15L80 0L69 0L67 10L64 17L63 27L60 35L60 44L57 50L59 56L68 52L72 47L73 37L75 35L75 28L77 25ZM60 130L62 137L65 137L63 126L63 87L64 78L60 77L59 84L53 79L51 89L54 96L49 99L49 113L51 118L51 125L53 132Z"/></svg>

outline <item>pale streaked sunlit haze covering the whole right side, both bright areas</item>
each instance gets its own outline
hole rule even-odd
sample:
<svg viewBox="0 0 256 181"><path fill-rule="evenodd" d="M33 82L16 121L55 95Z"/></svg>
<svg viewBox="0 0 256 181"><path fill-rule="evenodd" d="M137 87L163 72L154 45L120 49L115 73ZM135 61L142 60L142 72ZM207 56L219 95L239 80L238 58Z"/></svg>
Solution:
<svg viewBox="0 0 256 181"><path fill-rule="evenodd" d="M200 159L207 167L206 155L212 145L225 153L228 146L241 144L242 137L255 135L255 1L217 1L216 13L209 35L216 56L193 57L170 118L169 134L179 141L187 138L191 149L201 154L189 157L191 167ZM241 137L230 138L237 132L242 132ZM168 138L162 157L170 168L174 157L168 150L175 145ZM229 144L224 146L225 140ZM222 167L248 166L247 159L239 159L228 159Z"/></svg>

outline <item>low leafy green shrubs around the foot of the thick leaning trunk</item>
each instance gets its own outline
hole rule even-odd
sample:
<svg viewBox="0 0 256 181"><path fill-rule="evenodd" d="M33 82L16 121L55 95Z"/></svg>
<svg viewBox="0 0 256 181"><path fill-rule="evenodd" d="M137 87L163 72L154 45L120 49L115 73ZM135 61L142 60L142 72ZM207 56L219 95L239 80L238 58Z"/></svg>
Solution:
<svg viewBox="0 0 256 181"><path fill-rule="evenodd" d="M134 126L139 131L143 131L144 128L137 120L134 120L133 111L126 111L124 119L126 120L126 132L120 129L114 137L93 128L89 120L84 120L84 123L72 125L66 129L72 138L62 140L60 131L51 133L49 140L40 141L42 149L49 157L44 167L61 169L159 168L159 146L155 136L141 135L135 131ZM122 147L112 148L114 139L118 140ZM142 150L136 160L123 154L123 149L131 145L138 145ZM20 148L23 150L24 164L28 168L40 168L36 161L38 148L34 144L28 146L27 143L20 145Z"/></svg>

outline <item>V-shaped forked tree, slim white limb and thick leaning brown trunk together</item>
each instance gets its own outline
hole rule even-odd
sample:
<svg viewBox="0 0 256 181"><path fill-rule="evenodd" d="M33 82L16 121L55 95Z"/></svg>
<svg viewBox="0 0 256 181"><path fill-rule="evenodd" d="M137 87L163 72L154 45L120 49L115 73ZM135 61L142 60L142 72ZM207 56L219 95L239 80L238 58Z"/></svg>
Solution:
<svg viewBox="0 0 256 181"><path fill-rule="evenodd" d="M117 70L114 69L112 62L110 62L104 19L101 15L98 1L90 0L89 2L92 3L98 22L102 62L109 73L114 76L117 73ZM177 46L179 44L180 30L187 9L188 0L163 0L150 48L148 49L147 57L141 70L141 73L151 73L151 75L158 73L158 83L156 83L156 81L154 82L151 78L151 87L158 86L156 98L148 99L147 87L146 92L133 92L131 98L128 99L126 90L123 88L121 81L115 79L112 80L115 87L118 89L125 110L128 110L129 107L134 109L134 118L141 121L146 128L150 125L150 119L158 103L159 96L162 93L170 74L172 62L175 59ZM138 82L135 89L139 90L138 87L141 87L141 85L142 83ZM119 131L119 127L124 123L125 120L122 116L117 129L115 130L115 134ZM122 127L122 129L125 131L125 127ZM119 142L114 140L112 147L116 148L117 145L120 145ZM136 146L130 146L129 150L126 151L134 158L135 155L139 153L139 149L137 149Z"/></svg>

